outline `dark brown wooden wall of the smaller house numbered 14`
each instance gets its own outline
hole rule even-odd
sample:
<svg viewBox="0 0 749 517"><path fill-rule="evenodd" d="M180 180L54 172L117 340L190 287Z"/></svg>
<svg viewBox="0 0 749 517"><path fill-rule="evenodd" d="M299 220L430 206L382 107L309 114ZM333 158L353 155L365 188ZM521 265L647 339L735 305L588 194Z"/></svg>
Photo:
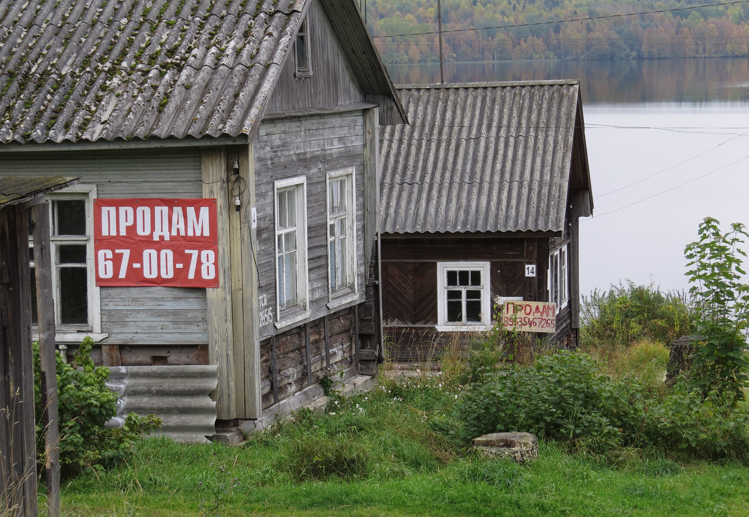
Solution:
<svg viewBox="0 0 749 517"><path fill-rule="evenodd" d="M382 241L383 321L391 357L417 360L439 354L439 348L455 339L452 333L438 333L437 262L489 261L491 264L491 298L521 296L524 300L548 300L548 254L552 246L570 242L564 235L550 234L498 235L384 235ZM576 248L570 246L570 253ZM525 264L536 264L536 277L525 276ZM578 277L573 276L570 258L570 294L577 296ZM573 282L575 285L573 286ZM557 333L539 334L553 342L567 344L577 329L572 312L577 305L568 303L557 316ZM467 342L467 337L459 338Z"/></svg>

